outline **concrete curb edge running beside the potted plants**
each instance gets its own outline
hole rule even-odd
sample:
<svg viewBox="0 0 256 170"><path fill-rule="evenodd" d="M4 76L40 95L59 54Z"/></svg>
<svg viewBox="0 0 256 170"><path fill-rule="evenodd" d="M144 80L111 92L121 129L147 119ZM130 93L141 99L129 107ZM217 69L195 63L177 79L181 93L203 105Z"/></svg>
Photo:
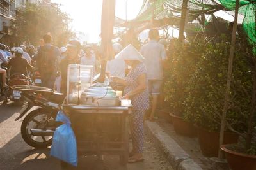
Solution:
<svg viewBox="0 0 256 170"><path fill-rule="evenodd" d="M202 170L156 122L145 121L144 130L160 152L164 153L174 170Z"/></svg>

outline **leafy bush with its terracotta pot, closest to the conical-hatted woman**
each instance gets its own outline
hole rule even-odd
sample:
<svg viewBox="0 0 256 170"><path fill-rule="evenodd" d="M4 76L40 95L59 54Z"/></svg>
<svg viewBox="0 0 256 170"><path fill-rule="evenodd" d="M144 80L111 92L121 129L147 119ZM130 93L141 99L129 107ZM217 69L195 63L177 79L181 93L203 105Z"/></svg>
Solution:
<svg viewBox="0 0 256 170"><path fill-rule="evenodd" d="M184 114L185 99L189 92L189 78L195 71L195 66L202 53L204 45L197 43L180 43L173 41L172 57L168 59L168 68L164 76L165 100L169 103L170 116L175 132L184 136L196 136L193 120Z"/></svg>

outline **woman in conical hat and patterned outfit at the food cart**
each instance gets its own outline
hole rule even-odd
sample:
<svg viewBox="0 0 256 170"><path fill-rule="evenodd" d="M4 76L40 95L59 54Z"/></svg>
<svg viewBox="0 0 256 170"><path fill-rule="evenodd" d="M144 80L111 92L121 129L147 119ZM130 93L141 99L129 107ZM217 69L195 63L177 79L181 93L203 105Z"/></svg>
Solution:
<svg viewBox="0 0 256 170"><path fill-rule="evenodd" d="M131 99L132 113L129 124L132 132L132 152L129 153L129 163L143 161L143 116L149 108L149 92L147 70L143 64L144 57L132 45L128 45L115 56L116 59L123 59L131 71L125 80L118 77L111 77L112 81L125 85L124 98Z"/></svg>

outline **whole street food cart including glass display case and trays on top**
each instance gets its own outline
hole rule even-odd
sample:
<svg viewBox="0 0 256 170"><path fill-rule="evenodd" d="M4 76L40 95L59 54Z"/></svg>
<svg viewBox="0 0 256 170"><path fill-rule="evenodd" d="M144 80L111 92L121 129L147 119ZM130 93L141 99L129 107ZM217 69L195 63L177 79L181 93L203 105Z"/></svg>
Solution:
<svg viewBox="0 0 256 170"><path fill-rule="evenodd" d="M71 127L76 135L77 153L78 155L97 155L99 160L103 159L103 155L119 155L120 163L125 165L129 157L128 115L132 108L120 106L120 102L116 106L108 106L108 103L113 103L113 101L109 102L107 95L111 93L108 91L109 87L106 87L106 95L102 96L107 97L107 102L100 101L102 100L100 97L99 101L92 99L87 102L89 105L86 105L83 102L85 98L81 96L92 86L92 79L81 77L81 75L92 74L92 69L92 66L81 67L80 65L72 65L68 68L68 100L67 104L63 105L63 111L70 118ZM78 78L75 78L74 72L79 75ZM91 90L94 92L95 89ZM77 99L74 95L70 95L72 92L78 94ZM61 166L65 165L61 163Z"/></svg>

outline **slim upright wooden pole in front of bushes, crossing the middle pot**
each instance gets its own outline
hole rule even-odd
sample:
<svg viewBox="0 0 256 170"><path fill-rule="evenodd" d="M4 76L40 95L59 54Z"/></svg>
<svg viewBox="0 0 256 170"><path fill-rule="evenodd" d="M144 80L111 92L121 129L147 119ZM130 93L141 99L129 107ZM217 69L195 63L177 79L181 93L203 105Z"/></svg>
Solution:
<svg viewBox="0 0 256 170"><path fill-rule="evenodd" d="M237 30L237 16L238 16L238 10L239 10L239 1L240 0L236 0L235 20L233 25L232 40L231 40L229 60L228 60L228 74L227 74L227 84L226 84L226 91L225 91L225 101L224 101L223 113L221 118L220 146L223 145L225 122L226 122L227 110L228 110L229 99L230 99L230 96L229 96L230 83L232 78L232 66L233 66L234 52L235 52L235 46L236 46L236 30ZM220 146L219 146L218 158L222 157Z"/></svg>

